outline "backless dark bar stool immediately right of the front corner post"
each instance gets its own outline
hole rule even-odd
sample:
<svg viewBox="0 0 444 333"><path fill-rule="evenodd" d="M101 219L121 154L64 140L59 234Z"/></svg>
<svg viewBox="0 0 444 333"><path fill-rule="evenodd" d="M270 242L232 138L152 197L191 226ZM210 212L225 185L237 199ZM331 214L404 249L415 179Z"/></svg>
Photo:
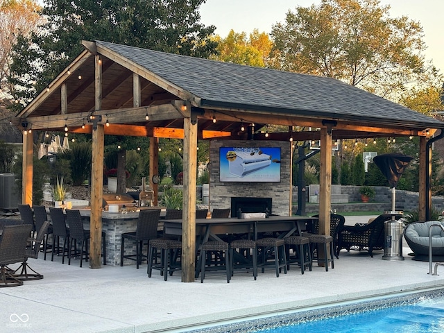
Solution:
<svg viewBox="0 0 444 333"><path fill-rule="evenodd" d="M208 271L219 271L221 265L207 266L207 262L211 265L211 255L212 253L219 254L220 257L225 257L225 271L227 273L227 283L230 283L231 272L230 272L230 257L228 254L228 248L230 244L225 241L206 241L202 246L200 246L200 283L203 283L205 279L205 269ZM207 257L209 255L209 257Z"/></svg>

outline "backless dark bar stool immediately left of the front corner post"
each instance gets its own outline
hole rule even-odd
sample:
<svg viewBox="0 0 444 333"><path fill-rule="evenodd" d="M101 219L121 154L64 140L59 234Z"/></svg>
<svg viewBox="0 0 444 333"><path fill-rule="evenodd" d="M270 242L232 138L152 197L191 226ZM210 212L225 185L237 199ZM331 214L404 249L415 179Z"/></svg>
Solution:
<svg viewBox="0 0 444 333"><path fill-rule="evenodd" d="M169 275L173 275L174 271L180 269L180 263L176 263L176 254L174 252L182 249L182 241L173 239L150 239L148 243L148 268L146 273L151 278L151 272L154 269L160 270L160 274L164 275L164 281ZM157 258L157 250L160 250L160 264L153 264Z"/></svg>

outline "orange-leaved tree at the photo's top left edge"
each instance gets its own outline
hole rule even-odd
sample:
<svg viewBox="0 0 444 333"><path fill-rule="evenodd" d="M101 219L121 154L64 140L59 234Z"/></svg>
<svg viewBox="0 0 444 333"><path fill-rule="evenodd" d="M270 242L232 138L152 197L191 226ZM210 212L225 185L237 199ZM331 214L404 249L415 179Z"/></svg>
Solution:
<svg viewBox="0 0 444 333"><path fill-rule="evenodd" d="M12 115L8 108L15 103L15 86L9 82L12 46L17 42L17 35L29 36L42 22L38 10L37 1L0 0L0 119ZM0 121L0 133L6 126L8 121Z"/></svg>

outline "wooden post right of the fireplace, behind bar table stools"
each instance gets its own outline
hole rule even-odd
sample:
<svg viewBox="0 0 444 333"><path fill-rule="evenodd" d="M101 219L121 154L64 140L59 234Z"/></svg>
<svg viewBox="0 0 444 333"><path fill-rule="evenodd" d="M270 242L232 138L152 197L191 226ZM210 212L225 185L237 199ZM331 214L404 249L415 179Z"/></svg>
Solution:
<svg viewBox="0 0 444 333"><path fill-rule="evenodd" d="M330 234L330 207L332 192L332 130L321 128L321 172L319 173L319 233ZM330 250L327 246L327 250ZM323 247L318 247L318 257L325 258ZM324 263L318 260L318 265Z"/></svg>

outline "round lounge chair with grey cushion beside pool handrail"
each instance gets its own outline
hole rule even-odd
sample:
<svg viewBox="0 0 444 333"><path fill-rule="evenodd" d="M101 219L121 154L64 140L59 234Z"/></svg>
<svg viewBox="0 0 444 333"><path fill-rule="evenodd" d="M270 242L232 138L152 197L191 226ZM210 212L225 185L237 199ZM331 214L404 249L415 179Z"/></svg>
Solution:
<svg viewBox="0 0 444 333"><path fill-rule="evenodd" d="M441 221L427 221L409 223L404 229L404 239L415 254L413 259L429 260L429 228L432 224L444 225ZM444 231L439 227L432 230L432 255L434 261L442 261L444 256Z"/></svg>

